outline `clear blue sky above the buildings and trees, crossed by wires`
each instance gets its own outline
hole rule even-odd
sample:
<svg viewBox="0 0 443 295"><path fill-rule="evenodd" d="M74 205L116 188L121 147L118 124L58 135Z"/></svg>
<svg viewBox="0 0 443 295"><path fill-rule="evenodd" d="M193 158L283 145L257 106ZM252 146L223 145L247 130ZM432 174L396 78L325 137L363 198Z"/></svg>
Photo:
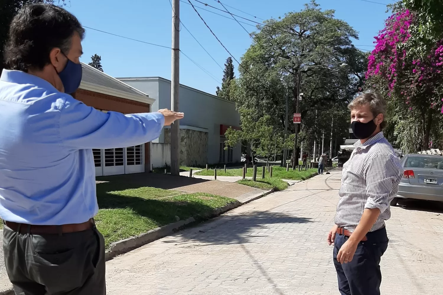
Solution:
<svg viewBox="0 0 443 295"><path fill-rule="evenodd" d="M187 2L187 0L184 0ZM194 0L194 5L204 7ZM221 8L216 0L201 0L214 7ZM277 18L289 11L299 11L309 0L221 0L233 8L256 16L247 15L233 8L228 10L247 19ZM389 4L394 0L373 0ZM317 0L323 9L334 9L335 16L348 22L359 32L360 40L354 44L362 49L372 49L373 36L377 35L384 26L384 20L389 16L385 13L385 5L363 0ZM90 28L122 35L171 47L171 4L169 0L70 0L67 9L74 13L80 22ZM206 9L221 15L228 14L213 8ZM237 60L245 53L251 44L249 35L233 19L199 10L203 19L218 36L226 48ZM260 18L260 19L258 19ZM214 57L211 57L198 45L188 31L182 27L180 32L180 49L198 63L216 80L194 65L187 57L180 57L180 83L214 94L216 86L221 84L222 68L229 54L210 33L202 20L189 4L180 2L180 19L195 38ZM241 19L245 23L248 21ZM253 23L251 23L253 24ZM243 24L249 31L255 31L254 26ZM105 73L113 77L160 76L171 79L171 50L142 42L120 38L110 34L86 29L83 41L84 55L82 61L87 63L93 54L101 55ZM369 46L368 46L369 45ZM217 65L218 64L218 65ZM236 70L237 64L234 62Z"/></svg>

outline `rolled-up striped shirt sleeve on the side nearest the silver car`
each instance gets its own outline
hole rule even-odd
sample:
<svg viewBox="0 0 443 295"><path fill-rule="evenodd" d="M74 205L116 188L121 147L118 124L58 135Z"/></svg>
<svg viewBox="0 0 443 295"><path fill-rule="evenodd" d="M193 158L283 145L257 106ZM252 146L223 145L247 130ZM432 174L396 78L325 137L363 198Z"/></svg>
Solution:
<svg viewBox="0 0 443 295"><path fill-rule="evenodd" d="M366 170L367 209L380 209L383 213L397 192L403 169L393 155L377 155Z"/></svg>

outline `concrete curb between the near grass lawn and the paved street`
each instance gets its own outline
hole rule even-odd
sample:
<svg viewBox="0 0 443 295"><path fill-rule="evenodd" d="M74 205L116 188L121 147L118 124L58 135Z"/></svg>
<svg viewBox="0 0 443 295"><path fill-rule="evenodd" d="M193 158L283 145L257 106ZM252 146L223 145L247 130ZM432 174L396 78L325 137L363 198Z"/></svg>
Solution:
<svg viewBox="0 0 443 295"><path fill-rule="evenodd" d="M260 194L253 195L250 199L246 200L245 202L236 201L233 203L229 203L226 206L217 208L214 211L207 212L206 214L197 215L195 217L187 218L186 220L180 220L178 222L170 223L166 226L159 227L155 230L150 230L147 233L140 234L139 236L128 238L122 241L117 241L111 244L111 249L105 253L105 260L109 261L114 257L116 257L117 255L128 253L129 251L140 248L141 246L152 243L153 241L174 234L189 226L217 217L227 211L240 207L241 205L247 204L256 199L260 199L265 195L269 195L274 191L275 190L272 189L270 191L262 192ZM0 295L3 294L0 293Z"/></svg>

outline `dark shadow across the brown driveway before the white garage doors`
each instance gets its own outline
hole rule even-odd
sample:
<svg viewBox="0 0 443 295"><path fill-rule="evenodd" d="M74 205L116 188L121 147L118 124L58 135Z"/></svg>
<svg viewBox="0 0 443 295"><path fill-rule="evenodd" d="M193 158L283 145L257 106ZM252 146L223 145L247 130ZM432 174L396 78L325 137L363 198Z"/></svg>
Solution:
<svg viewBox="0 0 443 295"><path fill-rule="evenodd" d="M174 189L191 184L200 184L206 181L210 181L199 178L190 178L186 176L172 176L157 173L100 176L97 177L96 180L104 181L103 183L97 183L97 192L98 190L110 192L122 191L128 188L143 187Z"/></svg>

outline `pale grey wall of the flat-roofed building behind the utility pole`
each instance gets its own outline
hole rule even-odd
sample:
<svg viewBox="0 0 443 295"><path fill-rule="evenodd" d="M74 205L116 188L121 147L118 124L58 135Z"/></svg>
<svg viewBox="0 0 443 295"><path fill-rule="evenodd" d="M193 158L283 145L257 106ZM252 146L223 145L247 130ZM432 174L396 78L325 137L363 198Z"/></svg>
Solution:
<svg viewBox="0 0 443 295"><path fill-rule="evenodd" d="M124 83L155 99L152 111L171 108L171 81L158 78L120 78ZM208 130L208 164L219 162L220 125L240 126L240 114L235 103L184 85L179 88L179 110L185 113L180 125ZM164 133L159 142L164 142ZM241 149L234 148L233 162L239 162ZM154 160L152 160L154 161Z"/></svg>

